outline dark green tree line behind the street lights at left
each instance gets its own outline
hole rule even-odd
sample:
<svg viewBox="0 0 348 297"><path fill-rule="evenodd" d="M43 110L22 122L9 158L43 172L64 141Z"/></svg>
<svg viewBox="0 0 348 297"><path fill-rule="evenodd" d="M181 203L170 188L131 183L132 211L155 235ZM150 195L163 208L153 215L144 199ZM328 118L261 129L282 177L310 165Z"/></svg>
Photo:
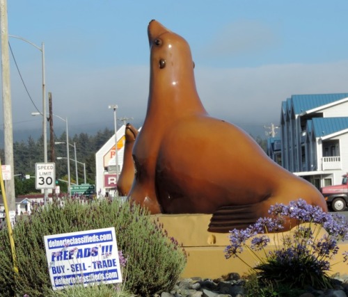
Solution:
<svg viewBox="0 0 348 297"><path fill-rule="evenodd" d="M76 183L74 147L76 147L77 161L86 164L86 182L95 184L95 153L113 136L114 131L105 128L97 131L97 134L90 136L86 133L75 134L69 138L70 154L70 181ZM47 143L48 161L56 163L57 186L60 186L61 192L67 192L68 189L68 162L67 159L56 159L56 157L67 157L66 134L54 137L54 156L55 160L50 160L52 147ZM4 150L0 150L1 164L4 165ZM25 195L28 193L40 193L35 189L35 163L43 163L44 160L44 143L41 136L35 141L31 136L26 141L16 141L13 143L13 162L15 175L15 193ZM84 182L84 166L77 163L79 184ZM26 179L26 177L29 177ZM62 182L66 181L66 182Z"/></svg>

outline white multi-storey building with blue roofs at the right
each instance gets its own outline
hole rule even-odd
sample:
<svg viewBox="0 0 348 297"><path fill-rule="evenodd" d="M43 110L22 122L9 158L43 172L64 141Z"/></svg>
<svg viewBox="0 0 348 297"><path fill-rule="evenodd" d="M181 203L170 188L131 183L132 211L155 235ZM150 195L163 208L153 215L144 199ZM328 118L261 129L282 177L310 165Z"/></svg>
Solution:
<svg viewBox="0 0 348 297"><path fill-rule="evenodd" d="M317 188L342 182L348 172L348 93L292 95L281 104L280 130L281 166Z"/></svg>

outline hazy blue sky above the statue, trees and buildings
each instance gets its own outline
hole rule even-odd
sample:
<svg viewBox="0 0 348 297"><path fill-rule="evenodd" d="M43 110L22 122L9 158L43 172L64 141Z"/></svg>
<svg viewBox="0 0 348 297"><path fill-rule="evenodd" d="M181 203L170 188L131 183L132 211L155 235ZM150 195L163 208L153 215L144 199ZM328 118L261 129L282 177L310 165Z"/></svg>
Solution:
<svg viewBox="0 0 348 297"><path fill-rule="evenodd" d="M249 129L278 124L291 95L348 92L347 13L344 0L11 0L8 32L39 47L45 42L53 112L86 132L113 127L109 104L118 104L118 117L145 118L147 26L157 19L189 42L210 115ZM10 45L42 109L40 51L15 38ZM13 129L40 128L10 63Z"/></svg>

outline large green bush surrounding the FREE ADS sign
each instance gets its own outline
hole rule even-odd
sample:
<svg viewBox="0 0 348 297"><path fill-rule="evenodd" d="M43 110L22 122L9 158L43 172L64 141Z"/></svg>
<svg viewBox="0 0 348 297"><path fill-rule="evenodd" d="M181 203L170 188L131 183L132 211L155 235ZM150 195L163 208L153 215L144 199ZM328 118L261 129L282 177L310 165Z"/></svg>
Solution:
<svg viewBox="0 0 348 297"><path fill-rule="evenodd" d="M13 272L8 230L0 231L0 296L52 296L43 236L115 227L118 249L127 258L125 291L153 296L170 291L186 264L186 254L148 211L117 200L54 200L13 229L17 267Z"/></svg>

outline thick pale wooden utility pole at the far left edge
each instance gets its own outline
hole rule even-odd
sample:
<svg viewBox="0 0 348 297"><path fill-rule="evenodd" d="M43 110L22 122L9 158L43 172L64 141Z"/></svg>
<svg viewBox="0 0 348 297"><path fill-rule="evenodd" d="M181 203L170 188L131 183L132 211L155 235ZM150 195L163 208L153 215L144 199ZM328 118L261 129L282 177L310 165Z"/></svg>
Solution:
<svg viewBox="0 0 348 297"><path fill-rule="evenodd" d="M11 168L12 177L5 181L6 196L10 216L16 210L15 180L13 166L13 125L10 85L10 58L8 54L8 20L6 0L0 0L0 30L1 30L1 70L2 70L2 99L3 99L3 140L5 148L5 164Z"/></svg>

